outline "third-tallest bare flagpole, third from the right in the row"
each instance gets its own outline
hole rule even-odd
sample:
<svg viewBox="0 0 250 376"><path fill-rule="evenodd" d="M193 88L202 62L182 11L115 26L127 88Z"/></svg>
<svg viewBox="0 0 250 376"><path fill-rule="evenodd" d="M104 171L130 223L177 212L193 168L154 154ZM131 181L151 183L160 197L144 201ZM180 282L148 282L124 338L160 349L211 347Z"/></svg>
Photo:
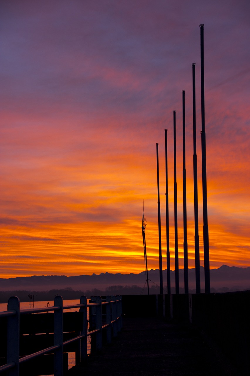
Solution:
<svg viewBox="0 0 250 376"><path fill-rule="evenodd" d="M184 251L184 292L188 294L188 245L187 245L187 178L186 178L186 136L185 136L185 90L182 90L182 141L183 141L183 251Z"/></svg>

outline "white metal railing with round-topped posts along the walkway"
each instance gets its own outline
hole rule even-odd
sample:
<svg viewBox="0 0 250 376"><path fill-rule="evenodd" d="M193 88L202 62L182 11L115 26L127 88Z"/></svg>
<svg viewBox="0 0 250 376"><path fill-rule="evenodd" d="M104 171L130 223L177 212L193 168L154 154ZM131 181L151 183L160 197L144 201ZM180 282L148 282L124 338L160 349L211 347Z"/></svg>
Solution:
<svg viewBox="0 0 250 376"><path fill-rule="evenodd" d="M89 307L90 330L88 331L87 307ZM102 313L105 307L105 314ZM63 310L79 308L83 312L83 322L80 335L77 335L67 341L63 341ZM54 311L54 345L42 349L20 358L20 315L34 314L41 312ZM105 316L105 323L102 318ZM81 296L80 304L63 307L63 299L56 296L54 306L47 308L20 309L20 301L16 296L12 296L8 301L8 311L0 312L0 318L7 317L7 362L0 367L2 371L8 371L8 376L19 376L19 365L27 362L37 356L54 353L54 376L63 375L63 346L78 341L79 353L76 356L78 363L87 359L87 337L91 336L92 344L95 344L96 351L102 349L102 329L106 331L107 343L111 342L113 337L122 327L122 300L121 296L107 296L104 301L101 297L91 297L90 303L87 303L86 296ZM113 330L112 330L113 329ZM77 364L78 364L77 363Z"/></svg>

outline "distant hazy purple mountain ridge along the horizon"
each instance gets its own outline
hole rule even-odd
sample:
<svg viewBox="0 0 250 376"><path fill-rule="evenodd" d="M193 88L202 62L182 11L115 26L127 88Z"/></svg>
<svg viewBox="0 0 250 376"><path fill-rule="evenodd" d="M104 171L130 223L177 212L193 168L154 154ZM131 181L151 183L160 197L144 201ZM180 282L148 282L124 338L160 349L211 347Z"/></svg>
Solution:
<svg viewBox="0 0 250 376"><path fill-rule="evenodd" d="M189 269L189 289L195 292L195 269ZM200 267L201 288L204 288L204 268ZM211 291L241 291L250 290L250 267L239 268L222 265L220 268L210 270ZM179 270L180 292L184 288L184 270ZM32 276L16 278L0 278L0 291L48 291L53 289L72 289L78 291L98 289L104 291L110 286L129 287L137 285L143 288L146 282L145 272L139 274L101 273L81 276ZM149 285L159 285L159 270L149 270ZM167 271L163 271L163 286L167 285ZM171 287L175 292L175 271L171 271Z"/></svg>

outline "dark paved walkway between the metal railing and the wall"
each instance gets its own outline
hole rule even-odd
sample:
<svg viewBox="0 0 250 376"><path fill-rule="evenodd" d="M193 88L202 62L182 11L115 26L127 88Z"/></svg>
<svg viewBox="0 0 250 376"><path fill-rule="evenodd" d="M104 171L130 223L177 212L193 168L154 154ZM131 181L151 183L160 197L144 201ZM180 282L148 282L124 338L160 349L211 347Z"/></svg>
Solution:
<svg viewBox="0 0 250 376"><path fill-rule="evenodd" d="M69 376L238 376L218 349L190 325L160 318L123 318L123 329Z"/></svg>

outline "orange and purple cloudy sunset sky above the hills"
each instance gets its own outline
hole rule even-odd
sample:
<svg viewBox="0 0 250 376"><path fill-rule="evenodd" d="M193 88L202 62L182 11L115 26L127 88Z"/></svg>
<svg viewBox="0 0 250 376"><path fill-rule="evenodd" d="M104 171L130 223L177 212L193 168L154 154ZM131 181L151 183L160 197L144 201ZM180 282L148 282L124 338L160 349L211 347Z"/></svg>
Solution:
<svg viewBox="0 0 250 376"><path fill-rule="evenodd" d="M183 268L182 90L188 267L194 267L192 63L196 63L200 263L200 24L204 24L210 267L250 265L250 2L2 0L0 277L159 268L156 143L166 269L165 129L174 260L176 110Z"/></svg>

